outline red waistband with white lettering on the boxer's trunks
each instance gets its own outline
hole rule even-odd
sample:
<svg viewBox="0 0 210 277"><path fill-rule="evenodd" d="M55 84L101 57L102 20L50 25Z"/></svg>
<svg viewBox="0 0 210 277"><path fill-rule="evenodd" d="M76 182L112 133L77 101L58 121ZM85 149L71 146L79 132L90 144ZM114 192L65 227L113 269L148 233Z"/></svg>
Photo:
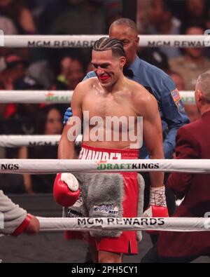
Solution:
<svg viewBox="0 0 210 277"><path fill-rule="evenodd" d="M139 158L139 149L106 149L82 144L80 160L120 160Z"/></svg>

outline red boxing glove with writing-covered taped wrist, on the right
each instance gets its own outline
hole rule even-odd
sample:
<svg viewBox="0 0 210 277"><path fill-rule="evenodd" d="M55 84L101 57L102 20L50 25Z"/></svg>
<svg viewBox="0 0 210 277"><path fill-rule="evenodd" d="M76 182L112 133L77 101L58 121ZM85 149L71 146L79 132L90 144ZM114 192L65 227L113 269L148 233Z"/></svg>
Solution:
<svg viewBox="0 0 210 277"><path fill-rule="evenodd" d="M169 217L165 198L165 186L151 187L150 204L144 211L143 217ZM158 231L146 231L148 234L157 234Z"/></svg>

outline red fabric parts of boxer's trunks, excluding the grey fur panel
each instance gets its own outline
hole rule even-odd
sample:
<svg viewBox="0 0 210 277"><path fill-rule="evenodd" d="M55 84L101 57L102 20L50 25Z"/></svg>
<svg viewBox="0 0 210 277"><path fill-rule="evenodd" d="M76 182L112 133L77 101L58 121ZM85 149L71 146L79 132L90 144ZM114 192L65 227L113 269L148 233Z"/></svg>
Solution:
<svg viewBox="0 0 210 277"><path fill-rule="evenodd" d="M103 149L82 144L79 159L136 159L139 149ZM120 173L124 180L123 217L137 217L139 184L137 173ZM83 238L96 245L97 250L137 254L137 232L123 231L119 237L93 238L89 232L66 231L67 239Z"/></svg>

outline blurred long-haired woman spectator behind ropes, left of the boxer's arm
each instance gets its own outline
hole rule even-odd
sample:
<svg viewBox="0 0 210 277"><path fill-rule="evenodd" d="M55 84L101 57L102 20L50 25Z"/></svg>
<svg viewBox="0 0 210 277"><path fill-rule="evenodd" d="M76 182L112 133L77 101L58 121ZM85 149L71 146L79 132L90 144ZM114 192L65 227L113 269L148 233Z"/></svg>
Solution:
<svg viewBox="0 0 210 277"><path fill-rule="evenodd" d="M46 106L36 116L37 135L59 135L62 133L62 115L56 106ZM19 158L57 158L57 146L21 147ZM29 193L52 192L55 175L24 175Z"/></svg>

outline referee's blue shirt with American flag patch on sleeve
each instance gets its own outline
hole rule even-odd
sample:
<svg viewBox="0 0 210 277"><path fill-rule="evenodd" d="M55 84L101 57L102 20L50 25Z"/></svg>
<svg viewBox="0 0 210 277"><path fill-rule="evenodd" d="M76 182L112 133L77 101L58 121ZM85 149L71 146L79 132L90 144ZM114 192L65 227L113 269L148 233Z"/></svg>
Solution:
<svg viewBox="0 0 210 277"><path fill-rule="evenodd" d="M144 86L158 101L162 120L163 150L165 158L172 158L177 130L190 122L181 100L176 101L177 98L174 96L174 91L176 92L174 81L161 69L140 60L138 56L127 69L131 69L134 74L128 78ZM84 80L94 76L96 75L93 71L88 72ZM148 152L143 145L139 158L146 158L146 156L148 156Z"/></svg>

